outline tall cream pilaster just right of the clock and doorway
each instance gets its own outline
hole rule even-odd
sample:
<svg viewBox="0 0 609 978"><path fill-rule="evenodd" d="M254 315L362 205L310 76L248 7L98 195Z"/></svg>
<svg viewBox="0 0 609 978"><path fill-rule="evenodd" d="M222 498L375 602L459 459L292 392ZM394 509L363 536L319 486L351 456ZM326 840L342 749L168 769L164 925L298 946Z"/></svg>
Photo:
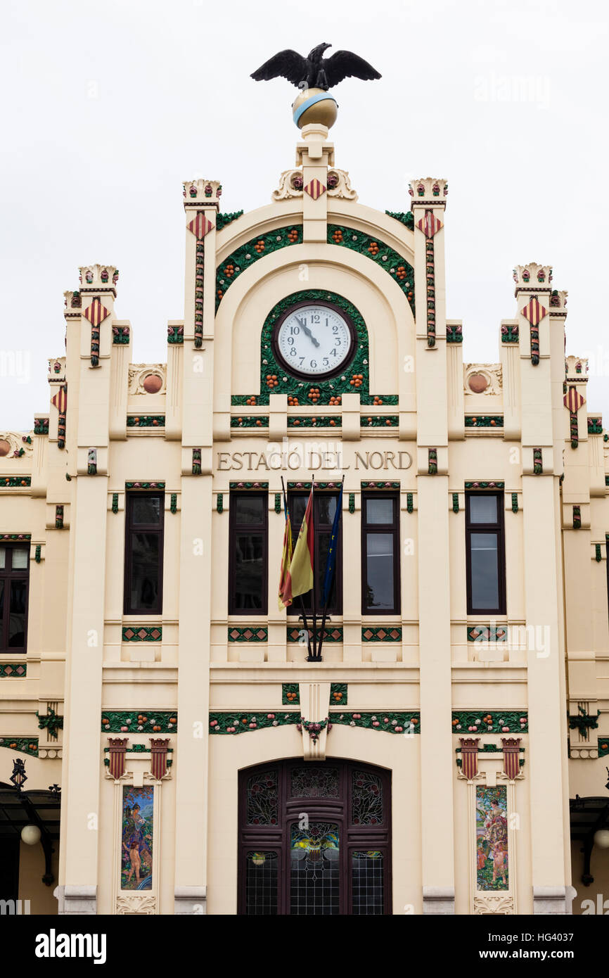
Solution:
<svg viewBox="0 0 609 978"><path fill-rule="evenodd" d="M411 184L416 304L416 561L423 913L455 912L451 582L448 561L437 559L437 555L444 553L449 539L445 191L444 180L426 177Z"/></svg>

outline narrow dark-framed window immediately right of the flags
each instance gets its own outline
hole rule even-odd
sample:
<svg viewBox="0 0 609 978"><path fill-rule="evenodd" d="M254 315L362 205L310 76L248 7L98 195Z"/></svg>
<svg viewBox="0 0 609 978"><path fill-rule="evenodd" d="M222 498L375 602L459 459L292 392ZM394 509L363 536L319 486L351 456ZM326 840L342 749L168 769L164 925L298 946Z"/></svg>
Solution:
<svg viewBox="0 0 609 978"><path fill-rule="evenodd" d="M362 614L400 613L400 509L390 493L362 495Z"/></svg>

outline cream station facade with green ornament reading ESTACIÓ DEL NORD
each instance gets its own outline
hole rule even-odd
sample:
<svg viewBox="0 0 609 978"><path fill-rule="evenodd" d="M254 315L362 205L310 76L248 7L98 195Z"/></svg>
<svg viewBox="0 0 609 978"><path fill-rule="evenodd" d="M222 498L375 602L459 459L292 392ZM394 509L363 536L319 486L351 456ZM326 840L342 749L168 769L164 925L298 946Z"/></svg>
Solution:
<svg viewBox="0 0 609 978"><path fill-rule="evenodd" d="M499 362L463 363L446 181L370 209L308 119L260 209L184 184L167 362L131 362L118 273L83 267L49 411L0 440L2 883L31 912L609 889L608 436L567 293L517 266ZM342 519L309 661L277 592L283 484L297 532L313 479L307 626Z"/></svg>

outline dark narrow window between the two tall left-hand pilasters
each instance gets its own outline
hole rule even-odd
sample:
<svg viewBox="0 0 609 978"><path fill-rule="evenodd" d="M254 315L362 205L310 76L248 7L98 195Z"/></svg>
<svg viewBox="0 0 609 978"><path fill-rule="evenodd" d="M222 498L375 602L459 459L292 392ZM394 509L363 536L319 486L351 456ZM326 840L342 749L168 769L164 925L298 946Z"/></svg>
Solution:
<svg viewBox="0 0 609 978"><path fill-rule="evenodd" d="M125 512L125 614L163 609L163 493L127 493Z"/></svg>

